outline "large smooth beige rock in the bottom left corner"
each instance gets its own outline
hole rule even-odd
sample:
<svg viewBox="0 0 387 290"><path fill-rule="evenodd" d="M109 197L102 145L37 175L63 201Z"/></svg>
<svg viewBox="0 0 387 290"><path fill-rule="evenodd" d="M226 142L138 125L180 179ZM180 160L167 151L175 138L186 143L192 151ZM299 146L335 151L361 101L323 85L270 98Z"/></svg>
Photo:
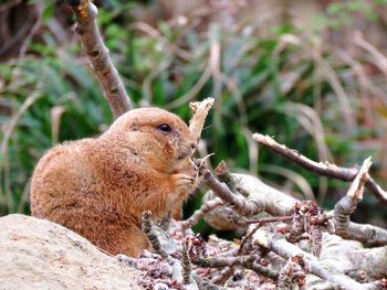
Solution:
<svg viewBox="0 0 387 290"><path fill-rule="evenodd" d="M139 275L60 225L0 218L0 289L143 289Z"/></svg>

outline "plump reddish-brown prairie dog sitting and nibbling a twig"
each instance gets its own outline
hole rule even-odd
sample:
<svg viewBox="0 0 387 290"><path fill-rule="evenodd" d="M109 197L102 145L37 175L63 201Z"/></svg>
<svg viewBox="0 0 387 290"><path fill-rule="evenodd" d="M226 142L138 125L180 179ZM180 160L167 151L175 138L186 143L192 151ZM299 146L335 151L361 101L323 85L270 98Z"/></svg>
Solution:
<svg viewBox="0 0 387 290"><path fill-rule="evenodd" d="M195 150L187 125L159 108L134 109L96 139L65 142L38 163L32 215L53 221L116 255L149 246L140 215L155 218L195 189Z"/></svg>

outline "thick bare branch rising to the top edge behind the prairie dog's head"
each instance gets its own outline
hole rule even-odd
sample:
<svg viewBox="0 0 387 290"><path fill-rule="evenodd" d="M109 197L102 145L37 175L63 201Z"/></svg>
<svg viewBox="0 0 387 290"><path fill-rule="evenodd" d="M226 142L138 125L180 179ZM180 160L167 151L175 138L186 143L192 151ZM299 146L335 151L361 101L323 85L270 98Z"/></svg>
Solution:
<svg viewBox="0 0 387 290"><path fill-rule="evenodd" d="M90 0L67 0L67 3L76 15L75 31L80 35L82 46L92 63L113 115L117 118L133 106L101 37L95 21L98 10Z"/></svg>

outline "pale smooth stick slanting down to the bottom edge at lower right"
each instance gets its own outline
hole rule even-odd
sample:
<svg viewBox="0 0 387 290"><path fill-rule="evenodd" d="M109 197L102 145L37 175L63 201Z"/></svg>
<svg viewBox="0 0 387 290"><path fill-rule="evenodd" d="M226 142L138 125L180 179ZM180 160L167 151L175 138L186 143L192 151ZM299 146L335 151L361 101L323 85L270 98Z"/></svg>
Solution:
<svg viewBox="0 0 387 290"><path fill-rule="evenodd" d="M295 255L302 256L306 264L310 266L312 273L323 278L324 280L327 280L334 286L339 286L348 290L367 289L349 277L324 266L316 257L289 243L282 236L261 229L253 235L253 244L265 247L285 258L286 260Z"/></svg>

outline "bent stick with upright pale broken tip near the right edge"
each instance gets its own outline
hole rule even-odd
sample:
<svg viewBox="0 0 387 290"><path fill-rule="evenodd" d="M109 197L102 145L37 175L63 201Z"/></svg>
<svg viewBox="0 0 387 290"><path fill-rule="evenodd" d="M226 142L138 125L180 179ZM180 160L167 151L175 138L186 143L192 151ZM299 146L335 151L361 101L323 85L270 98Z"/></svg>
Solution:
<svg viewBox="0 0 387 290"><path fill-rule="evenodd" d="M349 216L356 211L357 203L363 198L370 164L370 158L364 161L347 194L336 203L333 222L336 234L343 238L359 240L369 246L384 246L387 245L386 229L373 225L356 224L349 219Z"/></svg>

